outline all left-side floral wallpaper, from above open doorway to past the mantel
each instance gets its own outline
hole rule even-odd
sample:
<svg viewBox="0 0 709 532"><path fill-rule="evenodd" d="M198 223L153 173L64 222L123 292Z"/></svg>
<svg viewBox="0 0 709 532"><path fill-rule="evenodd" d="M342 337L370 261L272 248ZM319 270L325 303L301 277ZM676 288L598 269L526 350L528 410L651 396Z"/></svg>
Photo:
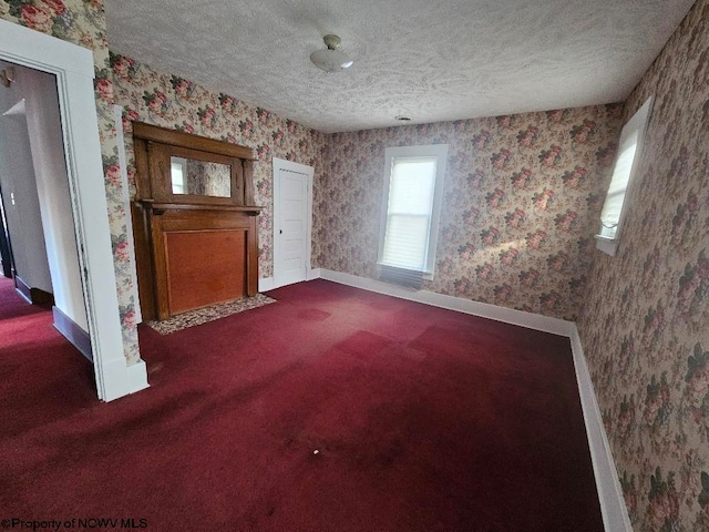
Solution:
<svg viewBox="0 0 709 532"><path fill-rule="evenodd" d="M131 121L173 127L255 149L256 202L266 209L259 219L260 276L273 274L271 250L271 157L315 165L323 135L263 109L250 108L233 96L209 91L171 73L158 72L116 54L106 44L102 0L0 0L0 17L54 35L93 51L95 92L105 188L111 225L116 289L129 362L140 357L133 284L129 255L127 215L121 185L113 104L125 108L124 127L129 155L129 178L134 194ZM317 174L316 174L317 175ZM318 191L315 191L316 201Z"/></svg>

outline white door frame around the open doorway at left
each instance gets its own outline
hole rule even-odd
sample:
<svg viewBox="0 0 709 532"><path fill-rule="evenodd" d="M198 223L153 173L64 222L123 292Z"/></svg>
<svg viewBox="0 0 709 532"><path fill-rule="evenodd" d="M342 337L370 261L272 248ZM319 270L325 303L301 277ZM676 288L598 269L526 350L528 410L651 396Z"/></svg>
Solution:
<svg viewBox="0 0 709 532"><path fill-rule="evenodd" d="M115 289L111 231L93 53L82 47L0 20L0 59L56 76L74 231L99 398L147 387L145 364L127 366Z"/></svg>

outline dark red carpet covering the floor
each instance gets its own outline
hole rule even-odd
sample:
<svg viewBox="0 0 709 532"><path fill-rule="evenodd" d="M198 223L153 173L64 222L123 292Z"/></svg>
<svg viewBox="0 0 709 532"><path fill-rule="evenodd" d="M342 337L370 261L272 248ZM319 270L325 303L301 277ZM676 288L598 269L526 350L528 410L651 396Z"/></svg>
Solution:
<svg viewBox="0 0 709 532"><path fill-rule="evenodd" d="M51 314L8 291L2 519L603 530L565 338L316 280L171 336L142 328L152 388L100 403Z"/></svg>

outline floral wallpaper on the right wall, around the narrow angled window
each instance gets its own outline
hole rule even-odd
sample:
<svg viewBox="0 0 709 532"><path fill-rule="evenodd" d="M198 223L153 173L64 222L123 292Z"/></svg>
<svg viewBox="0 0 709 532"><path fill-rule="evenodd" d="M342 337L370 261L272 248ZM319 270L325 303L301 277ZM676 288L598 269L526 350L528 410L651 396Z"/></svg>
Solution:
<svg viewBox="0 0 709 532"><path fill-rule="evenodd" d="M709 530L709 1L629 96L655 109L618 255L578 327L637 531Z"/></svg>

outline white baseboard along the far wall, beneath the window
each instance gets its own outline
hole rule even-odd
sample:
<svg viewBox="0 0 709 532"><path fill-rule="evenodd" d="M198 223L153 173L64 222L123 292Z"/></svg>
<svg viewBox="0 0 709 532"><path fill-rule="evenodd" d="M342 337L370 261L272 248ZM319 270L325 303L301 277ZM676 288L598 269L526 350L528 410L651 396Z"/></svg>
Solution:
<svg viewBox="0 0 709 532"><path fill-rule="evenodd" d="M557 336L571 337L576 326L573 321L566 321L558 318L549 318L538 314L525 313L512 308L499 307L487 303L473 301L460 297L445 296L428 290L413 290L381 280L368 279L357 275L342 274L330 269L321 269L320 277L332 280L341 285L362 288L387 296L408 299L410 301L423 303L434 307L448 308L449 310L458 310L459 313L471 314L482 318L490 318L505 324L518 325L528 329L551 332Z"/></svg>

